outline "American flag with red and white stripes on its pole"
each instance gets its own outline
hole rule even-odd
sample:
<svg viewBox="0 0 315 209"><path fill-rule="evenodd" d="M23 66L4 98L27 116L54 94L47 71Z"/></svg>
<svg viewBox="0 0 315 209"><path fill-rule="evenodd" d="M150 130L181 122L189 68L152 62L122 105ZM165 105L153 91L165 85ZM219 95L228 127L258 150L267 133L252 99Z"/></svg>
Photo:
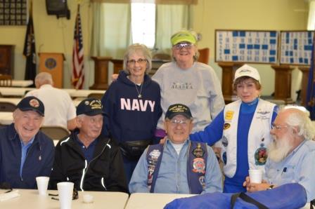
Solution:
<svg viewBox="0 0 315 209"><path fill-rule="evenodd" d="M84 83L83 40L80 18L80 6L77 6L77 18L75 18L75 39L72 52L72 85L76 89L82 89Z"/></svg>

